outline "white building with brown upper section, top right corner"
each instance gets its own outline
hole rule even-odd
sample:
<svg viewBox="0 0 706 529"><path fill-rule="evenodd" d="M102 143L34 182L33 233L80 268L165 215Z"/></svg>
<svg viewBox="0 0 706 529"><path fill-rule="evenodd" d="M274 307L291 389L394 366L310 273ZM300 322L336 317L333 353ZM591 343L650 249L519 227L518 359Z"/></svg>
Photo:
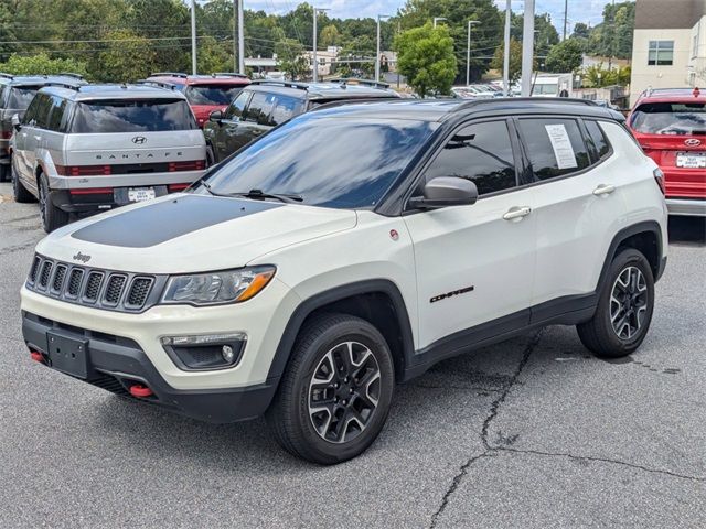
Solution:
<svg viewBox="0 0 706 529"><path fill-rule="evenodd" d="M637 0L630 101L645 89L706 86L706 0Z"/></svg>

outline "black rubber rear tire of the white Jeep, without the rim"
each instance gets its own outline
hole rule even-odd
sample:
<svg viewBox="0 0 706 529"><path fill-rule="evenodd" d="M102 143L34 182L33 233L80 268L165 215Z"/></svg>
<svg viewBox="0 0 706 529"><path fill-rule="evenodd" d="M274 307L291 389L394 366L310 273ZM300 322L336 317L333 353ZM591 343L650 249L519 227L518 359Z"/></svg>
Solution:
<svg viewBox="0 0 706 529"><path fill-rule="evenodd" d="M618 336L611 324L610 317L610 300L613 285L618 277L629 267L634 267L642 272L646 285L646 313L640 330L630 338L621 338ZM608 358L620 358L633 353L650 328L652 313L654 311L654 278L650 262L643 253L627 248L616 256L608 270L608 278L603 284L598 301L598 307L593 317L576 326L581 343L591 350L596 356Z"/></svg>

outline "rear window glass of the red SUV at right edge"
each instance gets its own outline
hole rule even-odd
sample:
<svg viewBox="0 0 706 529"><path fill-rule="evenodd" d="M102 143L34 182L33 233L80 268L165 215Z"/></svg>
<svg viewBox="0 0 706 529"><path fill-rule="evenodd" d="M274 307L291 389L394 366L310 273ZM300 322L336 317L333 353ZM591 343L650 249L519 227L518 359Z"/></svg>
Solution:
<svg viewBox="0 0 706 529"><path fill-rule="evenodd" d="M648 102L635 109L632 128L643 134L706 134L706 104Z"/></svg>

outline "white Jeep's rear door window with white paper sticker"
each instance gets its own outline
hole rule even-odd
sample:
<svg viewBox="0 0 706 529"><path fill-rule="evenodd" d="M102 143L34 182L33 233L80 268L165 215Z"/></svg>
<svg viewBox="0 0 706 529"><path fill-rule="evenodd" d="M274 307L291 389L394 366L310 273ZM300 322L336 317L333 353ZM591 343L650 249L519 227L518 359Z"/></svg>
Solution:
<svg viewBox="0 0 706 529"><path fill-rule="evenodd" d="M575 119L518 120L535 181L564 176L590 165L588 148Z"/></svg>

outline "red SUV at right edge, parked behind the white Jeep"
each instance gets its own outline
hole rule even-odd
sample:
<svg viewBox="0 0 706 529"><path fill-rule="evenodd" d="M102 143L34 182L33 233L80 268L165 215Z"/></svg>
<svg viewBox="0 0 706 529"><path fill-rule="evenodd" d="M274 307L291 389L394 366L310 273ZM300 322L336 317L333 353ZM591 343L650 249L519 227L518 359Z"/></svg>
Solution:
<svg viewBox="0 0 706 529"><path fill-rule="evenodd" d="M706 94L698 88L646 90L628 125L664 173L670 214L706 216Z"/></svg>

